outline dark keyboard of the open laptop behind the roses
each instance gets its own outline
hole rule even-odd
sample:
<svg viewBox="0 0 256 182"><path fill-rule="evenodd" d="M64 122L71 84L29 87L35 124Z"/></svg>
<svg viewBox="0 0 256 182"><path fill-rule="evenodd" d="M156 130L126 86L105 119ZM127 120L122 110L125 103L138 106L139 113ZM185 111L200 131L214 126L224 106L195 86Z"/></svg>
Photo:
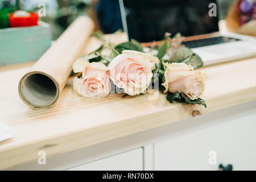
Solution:
<svg viewBox="0 0 256 182"><path fill-rule="evenodd" d="M183 42L183 44L189 48L196 48L196 47L203 47L203 46L211 46L214 44L233 42L237 40L240 40L240 39L228 38L225 36L217 36L215 38L187 41L187 42Z"/></svg>

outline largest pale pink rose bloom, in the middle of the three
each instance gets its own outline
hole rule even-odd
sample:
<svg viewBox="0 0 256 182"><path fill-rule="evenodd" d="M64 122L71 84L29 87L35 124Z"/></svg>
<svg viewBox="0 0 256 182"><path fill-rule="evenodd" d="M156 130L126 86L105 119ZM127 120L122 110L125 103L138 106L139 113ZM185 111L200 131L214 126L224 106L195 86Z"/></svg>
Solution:
<svg viewBox="0 0 256 182"><path fill-rule="evenodd" d="M114 84L130 96L144 93L151 82L152 55L137 51L123 51L109 64L109 75Z"/></svg>

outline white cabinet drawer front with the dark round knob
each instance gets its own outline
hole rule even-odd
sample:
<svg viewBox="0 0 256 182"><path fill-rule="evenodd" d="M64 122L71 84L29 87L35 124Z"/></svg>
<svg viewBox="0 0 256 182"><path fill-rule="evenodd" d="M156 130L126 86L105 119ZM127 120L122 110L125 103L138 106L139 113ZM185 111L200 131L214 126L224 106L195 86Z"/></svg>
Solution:
<svg viewBox="0 0 256 182"><path fill-rule="evenodd" d="M229 117L222 116L220 111L215 113L218 121L212 125L156 142L154 169L217 170L218 164L231 163L233 170L256 170L255 105L242 112L233 110Z"/></svg>

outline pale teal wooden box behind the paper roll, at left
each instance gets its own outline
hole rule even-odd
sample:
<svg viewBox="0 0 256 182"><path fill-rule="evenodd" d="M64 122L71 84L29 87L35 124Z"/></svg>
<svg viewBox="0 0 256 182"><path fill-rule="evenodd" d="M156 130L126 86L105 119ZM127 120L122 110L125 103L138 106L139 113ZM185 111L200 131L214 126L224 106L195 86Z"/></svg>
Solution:
<svg viewBox="0 0 256 182"><path fill-rule="evenodd" d="M49 24L0 29L0 66L38 60L51 46Z"/></svg>

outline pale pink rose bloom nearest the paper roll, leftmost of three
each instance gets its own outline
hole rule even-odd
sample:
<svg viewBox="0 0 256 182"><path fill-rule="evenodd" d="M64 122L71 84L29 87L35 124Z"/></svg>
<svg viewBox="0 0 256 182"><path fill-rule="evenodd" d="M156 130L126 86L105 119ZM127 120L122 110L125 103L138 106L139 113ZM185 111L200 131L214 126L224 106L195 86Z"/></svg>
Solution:
<svg viewBox="0 0 256 182"><path fill-rule="evenodd" d="M108 68L102 63L89 63L78 59L73 64L75 73L82 72L81 78L74 78L73 89L77 96L105 97L110 93Z"/></svg>

